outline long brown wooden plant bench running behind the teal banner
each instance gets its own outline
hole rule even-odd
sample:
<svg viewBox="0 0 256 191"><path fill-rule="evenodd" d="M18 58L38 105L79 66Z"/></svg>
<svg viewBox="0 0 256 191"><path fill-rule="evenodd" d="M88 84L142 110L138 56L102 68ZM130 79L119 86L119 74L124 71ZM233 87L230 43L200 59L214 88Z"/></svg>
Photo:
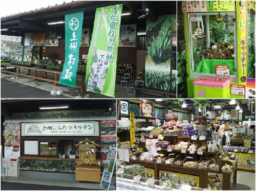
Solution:
<svg viewBox="0 0 256 191"><path fill-rule="evenodd" d="M39 69L37 67L10 65L8 63L1 63L1 67L3 67L3 69L1 71L4 72L4 74L8 73L8 74L14 74L14 75L17 75L17 76L28 77L28 78L34 79L34 81L35 80L47 81L47 82L54 83L54 85L57 85L59 83L59 75L61 75L60 71L52 71L52 70L46 70L46 69ZM8 71L8 67L14 67L14 71ZM27 74L22 74L21 73L21 69L22 70L28 70L28 73ZM31 73L31 71L33 71L33 75ZM38 72L44 72L44 77L38 77L37 76ZM54 78L53 79L49 79L47 77L48 73L54 74ZM76 78L80 78L81 79L81 83L79 85L76 85L76 88L80 89L81 92L84 91L85 90L85 87L84 87L85 75L77 74Z"/></svg>

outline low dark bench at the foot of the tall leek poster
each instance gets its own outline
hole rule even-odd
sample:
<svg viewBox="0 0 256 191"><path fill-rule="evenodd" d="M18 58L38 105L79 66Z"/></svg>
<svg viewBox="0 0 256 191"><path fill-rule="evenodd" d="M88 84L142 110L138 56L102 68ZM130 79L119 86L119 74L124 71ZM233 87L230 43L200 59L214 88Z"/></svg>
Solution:
<svg viewBox="0 0 256 191"><path fill-rule="evenodd" d="M135 96L137 97L156 97L161 96L163 98L176 98L176 93L172 92L171 89L169 90L162 90L152 87L143 87L137 86L135 87Z"/></svg>

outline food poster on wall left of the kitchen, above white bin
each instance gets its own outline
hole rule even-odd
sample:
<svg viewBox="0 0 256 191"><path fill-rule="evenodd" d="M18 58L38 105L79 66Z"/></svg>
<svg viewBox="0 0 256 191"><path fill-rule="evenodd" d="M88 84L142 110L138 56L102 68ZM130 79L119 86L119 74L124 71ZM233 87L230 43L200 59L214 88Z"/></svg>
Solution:
<svg viewBox="0 0 256 191"><path fill-rule="evenodd" d="M20 157L20 123L6 122L4 125L4 158Z"/></svg>

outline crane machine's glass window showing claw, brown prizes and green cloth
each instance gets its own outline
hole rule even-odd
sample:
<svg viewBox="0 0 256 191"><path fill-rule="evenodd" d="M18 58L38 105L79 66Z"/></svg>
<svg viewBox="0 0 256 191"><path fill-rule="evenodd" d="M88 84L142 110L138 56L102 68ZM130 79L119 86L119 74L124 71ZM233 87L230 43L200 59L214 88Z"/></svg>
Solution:
<svg viewBox="0 0 256 191"><path fill-rule="evenodd" d="M189 17L192 72L215 75L216 65L236 76L236 16L233 12L191 13Z"/></svg>

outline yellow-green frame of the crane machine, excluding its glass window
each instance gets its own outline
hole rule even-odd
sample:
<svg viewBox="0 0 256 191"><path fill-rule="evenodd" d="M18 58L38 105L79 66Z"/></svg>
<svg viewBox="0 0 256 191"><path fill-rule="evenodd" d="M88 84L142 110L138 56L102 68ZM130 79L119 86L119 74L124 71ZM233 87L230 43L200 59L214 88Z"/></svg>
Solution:
<svg viewBox="0 0 256 191"><path fill-rule="evenodd" d="M192 4L192 1L190 1ZM235 65L233 67L230 66L230 77L223 76L223 78L227 78L230 80L230 85L228 85L225 88L215 88L215 87L200 87L206 92L205 98L213 98L213 97L222 97L222 98L244 98L245 96L245 89L246 89L246 80L248 78L248 69L249 67L252 68L253 62L250 62L248 57L248 29L247 29L247 16L248 16L248 10L253 9L254 10L254 20L255 20L255 1L233 1L234 7L229 8L229 10L223 11L223 10L217 10L216 8L211 8L209 5L214 5L216 2L220 1L204 1L207 6L207 11L204 10L203 12L198 12L198 10L195 11L195 13L209 13L217 15L220 12L233 12L235 13L236 18L236 24L235 24ZM192 5L193 6L193 5ZM184 8L185 7L185 8ZM188 9L188 3L187 1L182 2L182 11L184 12L184 37L185 37L185 48L186 48L186 70L188 73L187 78L187 88L188 88L188 97L197 97L196 95L196 86L194 86L193 82L196 80L198 74L194 74L192 71L192 54L191 54L191 46L192 43L192 37L190 36L190 26L189 26L189 16L190 13L193 13L193 11ZM254 22L255 26L255 22ZM254 30L255 35L255 30ZM255 44L254 44L255 47ZM254 48L254 59L255 59L255 48ZM212 60L214 61L214 60ZM220 60L215 60L220 61ZM236 69L234 69L236 68ZM215 69L215 67L214 67ZM214 70L210 69L210 70ZM234 70L233 70L234 69ZM235 72L234 72L235 71ZM235 73L235 75L234 75ZM209 74L203 74L201 76L209 76L209 77L219 77L216 75L209 75ZM232 89L233 88L241 88L244 89L243 95L233 94ZM218 92L221 92L222 94L220 96L216 96Z"/></svg>

